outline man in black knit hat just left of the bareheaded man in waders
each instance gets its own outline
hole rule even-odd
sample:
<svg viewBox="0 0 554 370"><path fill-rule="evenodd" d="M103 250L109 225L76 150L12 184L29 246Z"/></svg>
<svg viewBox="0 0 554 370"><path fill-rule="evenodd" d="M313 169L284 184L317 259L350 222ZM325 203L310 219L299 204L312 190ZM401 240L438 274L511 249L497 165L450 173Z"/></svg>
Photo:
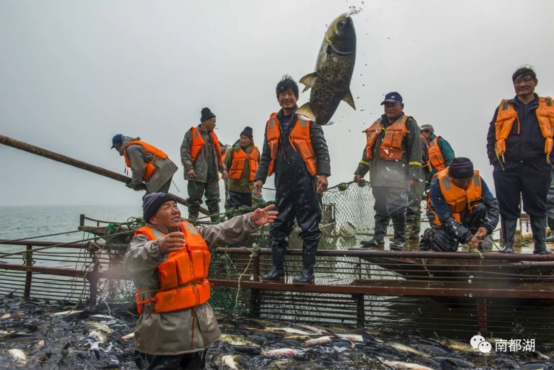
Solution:
<svg viewBox="0 0 554 370"><path fill-rule="evenodd" d="M254 145L252 127L244 127L240 138L225 156L225 168L228 168L229 188L228 207L252 205L254 176L260 161L260 151Z"/></svg>

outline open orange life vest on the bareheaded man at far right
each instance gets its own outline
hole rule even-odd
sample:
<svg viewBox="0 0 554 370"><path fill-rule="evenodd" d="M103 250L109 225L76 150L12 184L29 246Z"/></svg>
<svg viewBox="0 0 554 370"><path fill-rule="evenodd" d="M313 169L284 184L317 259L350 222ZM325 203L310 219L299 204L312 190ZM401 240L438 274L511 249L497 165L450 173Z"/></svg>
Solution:
<svg viewBox="0 0 554 370"><path fill-rule="evenodd" d="M545 138L545 153L547 162L550 162L549 156L554 146L554 104L551 97L538 98L538 107L536 109L538 126L541 129L542 136ZM496 144L494 150L500 158L506 152L506 139L510 135L512 125L517 120L517 133L520 133L520 120L514 106L510 104L510 100L504 99L498 106L498 114L496 115L495 131Z"/></svg>

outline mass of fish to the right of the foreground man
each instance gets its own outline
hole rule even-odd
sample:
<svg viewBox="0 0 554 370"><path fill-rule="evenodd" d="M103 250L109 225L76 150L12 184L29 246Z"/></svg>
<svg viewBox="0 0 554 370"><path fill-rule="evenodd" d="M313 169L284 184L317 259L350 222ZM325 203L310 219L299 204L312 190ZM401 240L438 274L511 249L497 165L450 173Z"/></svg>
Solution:
<svg viewBox="0 0 554 370"><path fill-rule="evenodd" d="M220 321L224 322L220 319ZM554 347L543 352L481 353L448 338L400 337L398 333L346 326L290 324L245 318L222 323L225 332L208 354L210 369L553 369ZM233 333L231 333L233 332Z"/></svg>

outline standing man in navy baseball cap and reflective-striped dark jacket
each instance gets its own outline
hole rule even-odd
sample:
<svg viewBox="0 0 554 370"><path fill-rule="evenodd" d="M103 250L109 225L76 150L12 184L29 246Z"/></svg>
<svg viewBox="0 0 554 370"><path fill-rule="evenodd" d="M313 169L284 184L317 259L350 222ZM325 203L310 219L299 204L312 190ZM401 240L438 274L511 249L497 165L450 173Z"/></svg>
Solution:
<svg viewBox="0 0 554 370"><path fill-rule="evenodd" d="M371 240L362 240L361 244L366 247L383 244L392 219L391 249L401 250L406 243L407 186L421 181L421 139L416 120L404 115L400 94L388 93L381 105L384 105L384 114L365 131L366 147L354 172L354 181L360 181L370 172L375 198L375 233Z"/></svg>

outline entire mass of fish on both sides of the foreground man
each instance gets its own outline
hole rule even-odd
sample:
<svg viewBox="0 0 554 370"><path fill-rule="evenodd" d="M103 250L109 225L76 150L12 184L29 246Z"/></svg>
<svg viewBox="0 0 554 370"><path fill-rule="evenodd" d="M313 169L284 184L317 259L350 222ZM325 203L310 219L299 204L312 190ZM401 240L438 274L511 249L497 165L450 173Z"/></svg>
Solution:
<svg viewBox="0 0 554 370"><path fill-rule="evenodd" d="M0 310L0 369L136 368L132 306L89 310L3 297ZM208 351L212 370L554 370L547 343L535 352L481 353L469 341L217 316L223 335Z"/></svg>

